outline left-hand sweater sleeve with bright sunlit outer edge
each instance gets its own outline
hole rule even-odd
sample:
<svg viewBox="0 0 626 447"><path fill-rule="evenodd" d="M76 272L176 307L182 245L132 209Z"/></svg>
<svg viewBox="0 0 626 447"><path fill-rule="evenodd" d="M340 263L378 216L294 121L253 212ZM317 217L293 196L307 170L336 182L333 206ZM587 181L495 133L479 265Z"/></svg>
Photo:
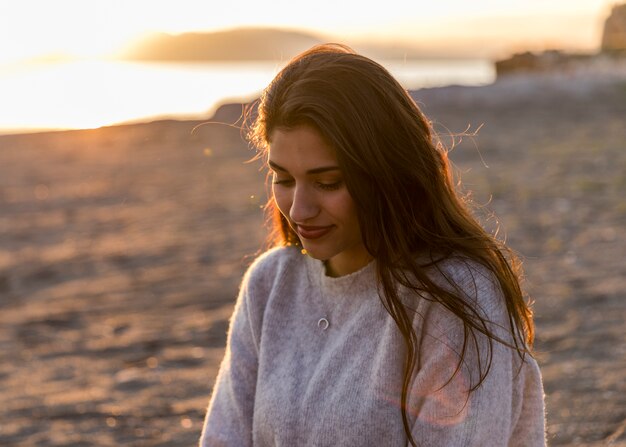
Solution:
<svg viewBox="0 0 626 447"><path fill-rule="evenodd" d="M204 421L201 447L251 446L258 367L258 318L251 303L249 274L230 321L226 352ZM258 327L257 327L258 329Z"/></svg>

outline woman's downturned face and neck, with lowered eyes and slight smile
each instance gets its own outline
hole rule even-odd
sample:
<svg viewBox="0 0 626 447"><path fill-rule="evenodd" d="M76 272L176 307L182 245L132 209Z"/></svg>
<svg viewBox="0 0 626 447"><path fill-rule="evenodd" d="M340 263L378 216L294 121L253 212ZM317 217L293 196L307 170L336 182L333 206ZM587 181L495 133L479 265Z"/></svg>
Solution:
<svg viewBox="0 0 626 447"><path fill-rule="evenodd" d="M352 273L369 262L335 150L316 130L308 126L274 130L269 167L278 209L307 253L327 261L330 276Z"/></svg>

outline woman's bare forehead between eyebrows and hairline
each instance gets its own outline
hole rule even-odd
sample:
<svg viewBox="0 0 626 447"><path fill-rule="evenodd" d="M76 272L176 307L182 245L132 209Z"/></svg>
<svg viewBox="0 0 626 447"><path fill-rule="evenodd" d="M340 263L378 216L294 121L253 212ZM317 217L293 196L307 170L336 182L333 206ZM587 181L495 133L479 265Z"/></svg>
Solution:
<svg viewBox="0 0 626 447"><path fill-rule="evenodd" d="M290 171L337 165L335 150L309 126L275 129L270 139L269 159Z"/></svg>

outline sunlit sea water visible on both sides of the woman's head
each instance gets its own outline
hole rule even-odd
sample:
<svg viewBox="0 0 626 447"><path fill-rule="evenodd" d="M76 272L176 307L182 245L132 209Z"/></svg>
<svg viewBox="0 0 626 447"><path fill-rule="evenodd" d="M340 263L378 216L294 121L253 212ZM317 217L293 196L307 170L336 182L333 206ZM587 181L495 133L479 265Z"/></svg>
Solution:
<svg viewBox="0 0 626 447"><path fill-rule="evenodd" d="M381 62L407 89L493 82L488 60ZM0 133L85 129L156 118L199 118L248 101L282 63L78 61L0 66Z"/></svg>

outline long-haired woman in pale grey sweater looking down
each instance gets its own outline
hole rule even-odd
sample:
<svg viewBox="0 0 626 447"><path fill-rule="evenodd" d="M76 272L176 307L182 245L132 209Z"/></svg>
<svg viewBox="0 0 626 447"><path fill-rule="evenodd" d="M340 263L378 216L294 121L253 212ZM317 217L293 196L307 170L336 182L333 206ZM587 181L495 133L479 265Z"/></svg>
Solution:
<svg viewBox="0 0 626 447"><path fill-rule="evenodd" d="M251 138L274 248L244 277L202 445L544 445L518 264L398 82L316 46L265 90Z"/></svg>

